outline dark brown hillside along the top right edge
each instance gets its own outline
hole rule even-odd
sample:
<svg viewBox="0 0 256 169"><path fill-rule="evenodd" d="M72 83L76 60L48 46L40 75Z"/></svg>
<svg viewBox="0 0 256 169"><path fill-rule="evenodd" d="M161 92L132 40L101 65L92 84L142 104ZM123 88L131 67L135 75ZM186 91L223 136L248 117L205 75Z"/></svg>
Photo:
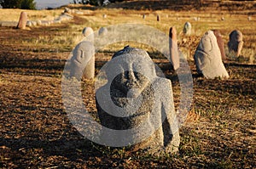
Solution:
<svg viewBox="0 0 256 169"><path fill-rule="evenodd" d="M223 1L223 0L130 0L111 3L108 8L149 9L149 10L189 10L211 8L221 10L255 10L256 1Z"/></svg>

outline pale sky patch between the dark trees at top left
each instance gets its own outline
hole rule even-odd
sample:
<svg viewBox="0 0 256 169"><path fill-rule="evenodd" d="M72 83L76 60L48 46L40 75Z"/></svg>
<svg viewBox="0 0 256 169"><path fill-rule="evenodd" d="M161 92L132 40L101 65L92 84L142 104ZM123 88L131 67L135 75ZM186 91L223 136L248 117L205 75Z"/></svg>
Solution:
<svg viewBox="0 0 256 169"><path fill-rule="evenodd" d="M60 7L61 5L66 5L68 3L73 2L73 0L34 0L37 3L37 8L56 8Z"/></svg>

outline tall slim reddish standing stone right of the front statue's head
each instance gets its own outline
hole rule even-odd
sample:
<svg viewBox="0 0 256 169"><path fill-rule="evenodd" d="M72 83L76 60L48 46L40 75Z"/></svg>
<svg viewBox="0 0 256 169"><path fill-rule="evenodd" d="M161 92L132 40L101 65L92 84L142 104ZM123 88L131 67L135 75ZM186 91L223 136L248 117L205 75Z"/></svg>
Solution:
<svg viewBox="0 0 256 169"><path fill-rule="evenodd" d="M179 56L178 56L178 50L177 50L177 30L175 27L170 28L169 37L170 37L169 48L170 48L172 66L174 70L177 70L177 68L179 68Z"/></svg>

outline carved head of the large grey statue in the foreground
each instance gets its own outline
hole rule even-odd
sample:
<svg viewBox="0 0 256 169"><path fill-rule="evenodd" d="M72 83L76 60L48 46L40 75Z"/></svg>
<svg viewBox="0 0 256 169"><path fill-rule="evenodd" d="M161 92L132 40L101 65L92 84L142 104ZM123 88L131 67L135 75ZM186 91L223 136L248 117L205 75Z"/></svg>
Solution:
<svg viewBox="0 0 256 169"><path fill-rule="evenodd" d="M125 49L113 57L113 65L107 72L108 80L111 89L119 91L120 97L136 98L156 77L154 63L145 51ZM113 75L115 72L118 74Z"/></svg>

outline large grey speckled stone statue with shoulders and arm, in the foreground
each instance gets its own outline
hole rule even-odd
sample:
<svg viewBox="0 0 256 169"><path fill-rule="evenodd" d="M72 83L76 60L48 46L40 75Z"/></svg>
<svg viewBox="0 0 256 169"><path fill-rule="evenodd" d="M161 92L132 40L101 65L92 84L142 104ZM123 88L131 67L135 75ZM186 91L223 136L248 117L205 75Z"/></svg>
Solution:
<svg viewBox="0 0 256 169"><path fill-rule="evenodd" d="M137 136L109 137L102 130L102 140L112 143L129 139L133 142L143 137L145 133L149 133L148 138L140 143L131 144L128 149L131 151L142 149L143 152L154 155L176 152L180 138L171 81L156 76L152 60L142 49L125 47L113 55L113 59L117 58L121 59L122 64L114 62L114 68L109 66L106 70L108 83L96 90L98 115L102 126L113 130L135 129ZM113 72L116 71L121 73L113 76ZM104 102L108 100L109 94L114 106L128 107L125 110L125 117L110 115L110 112L122 113L116 111L112 104ZM137 102L138 98L142 99L141 104ZM104 100L103 104L99 100ZM102 106L108 106L109 112L106 112ZM136 112L132 112L133 110Z"/></svg>

